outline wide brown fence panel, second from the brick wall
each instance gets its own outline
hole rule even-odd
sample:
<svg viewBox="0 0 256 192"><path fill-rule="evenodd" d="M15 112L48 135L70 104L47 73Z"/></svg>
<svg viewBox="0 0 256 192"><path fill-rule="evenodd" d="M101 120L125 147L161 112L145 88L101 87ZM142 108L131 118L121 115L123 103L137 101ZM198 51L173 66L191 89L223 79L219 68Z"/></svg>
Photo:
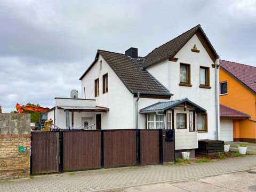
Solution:
<svg viewBox="0 0 256 192"><path fill-rule="evenodd" d="M63 131L63 171L101 167L101 131Z"/></svg>

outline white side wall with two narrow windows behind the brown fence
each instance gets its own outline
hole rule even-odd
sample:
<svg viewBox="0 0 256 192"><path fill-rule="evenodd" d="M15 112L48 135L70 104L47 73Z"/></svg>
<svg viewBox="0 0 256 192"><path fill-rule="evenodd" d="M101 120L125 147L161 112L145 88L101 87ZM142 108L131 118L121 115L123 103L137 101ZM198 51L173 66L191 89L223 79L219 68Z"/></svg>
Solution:
<svg viewBox="0 0 256 192"><path fill-rule="evenodd" d="M102 69L100 70L100 61ZM108 92L102 93L102 76L108 73ZM94 80L99 78L99 96L94 97ZM82 81L84 98L95 99L96 106L108 107L107 113L101 115L101 129L133 129L133 94L121 82L108 63L99 55L98 61Z"/></svg>

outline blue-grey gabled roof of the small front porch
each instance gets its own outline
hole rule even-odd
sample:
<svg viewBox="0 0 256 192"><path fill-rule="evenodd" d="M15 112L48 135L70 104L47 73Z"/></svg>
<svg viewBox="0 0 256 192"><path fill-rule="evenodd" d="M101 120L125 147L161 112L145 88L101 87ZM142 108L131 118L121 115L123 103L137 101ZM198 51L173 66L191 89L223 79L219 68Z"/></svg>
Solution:
<svg viewBox="0 0 256 192"><path fill-rule="evenodd" d="M188 98L158 102L151 106L140 109L140 113L163 112L173 107L181 107L184 109L186 109L187 107L190 107L190 108L194 108L197 113L206 113L206 110L204 108L196 105L196 103L188 100Z"/></svg>

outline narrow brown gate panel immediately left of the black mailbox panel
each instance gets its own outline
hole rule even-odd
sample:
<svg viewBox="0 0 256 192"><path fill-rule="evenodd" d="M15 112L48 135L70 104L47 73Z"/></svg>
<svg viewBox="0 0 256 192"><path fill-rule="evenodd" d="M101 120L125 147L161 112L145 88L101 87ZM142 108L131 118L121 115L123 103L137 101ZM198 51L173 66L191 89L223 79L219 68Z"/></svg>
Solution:
<svg viewBox="0 0 256 192"><path fill-rule="evenodd" d="M159 130L140 130L140 164L158 164L159 151Z"/></svg>

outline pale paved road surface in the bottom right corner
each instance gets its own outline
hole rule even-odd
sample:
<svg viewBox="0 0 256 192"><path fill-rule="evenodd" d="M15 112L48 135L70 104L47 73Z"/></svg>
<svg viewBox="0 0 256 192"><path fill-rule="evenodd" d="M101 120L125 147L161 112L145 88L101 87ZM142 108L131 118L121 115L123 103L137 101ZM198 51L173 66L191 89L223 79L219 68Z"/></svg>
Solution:
<svg viewBox="0 0 256 192"><path fill-rule="evenodd" d="M200 191L256 191L256 169L222 174L214 177L191 179L180 182L158 183L116 190L116 192L200 192Z"/></svg>

